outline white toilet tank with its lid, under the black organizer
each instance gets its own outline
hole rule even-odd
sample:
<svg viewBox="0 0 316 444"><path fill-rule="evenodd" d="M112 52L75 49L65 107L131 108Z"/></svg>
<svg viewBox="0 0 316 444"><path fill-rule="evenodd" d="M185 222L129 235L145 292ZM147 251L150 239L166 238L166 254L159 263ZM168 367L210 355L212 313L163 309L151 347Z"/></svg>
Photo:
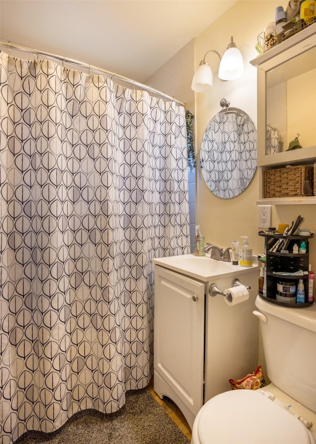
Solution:
<svg viewBox="0 0 316 444"><path fill-rule="evenodd" d="M257 296L269 379L316 412L316 303L292 308Z"/></svg>

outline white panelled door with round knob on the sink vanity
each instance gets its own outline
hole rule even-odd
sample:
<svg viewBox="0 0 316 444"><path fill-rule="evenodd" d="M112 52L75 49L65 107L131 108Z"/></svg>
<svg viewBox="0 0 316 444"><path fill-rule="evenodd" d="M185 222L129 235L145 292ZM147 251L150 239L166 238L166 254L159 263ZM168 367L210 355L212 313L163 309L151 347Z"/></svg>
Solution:
<svg viewBox="0 0 316 444"><path fill-rule="evenodd" d="M203 404L203 354L204 284L156 265L155 372L171 389L162 395L194 415Z"/></svg>

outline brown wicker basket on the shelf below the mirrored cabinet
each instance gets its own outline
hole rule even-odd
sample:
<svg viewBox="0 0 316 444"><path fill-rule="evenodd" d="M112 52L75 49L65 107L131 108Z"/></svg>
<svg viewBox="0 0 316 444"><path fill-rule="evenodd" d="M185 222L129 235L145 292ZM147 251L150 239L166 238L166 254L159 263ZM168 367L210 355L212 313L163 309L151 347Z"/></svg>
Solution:
<svg viewBox="0 0 316 444"><path fill-rule="evenodd" d="M297 165L265 171L264 197L311 196L308 191L313 190L315 165L314 168Z"/></svg>

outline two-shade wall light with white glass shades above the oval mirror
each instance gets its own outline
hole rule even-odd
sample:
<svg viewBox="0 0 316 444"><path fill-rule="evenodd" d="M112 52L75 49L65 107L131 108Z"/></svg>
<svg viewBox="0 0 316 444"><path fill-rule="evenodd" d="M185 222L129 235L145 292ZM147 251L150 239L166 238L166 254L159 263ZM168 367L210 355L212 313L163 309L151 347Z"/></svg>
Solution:
<svg viewBox="0 0 316 444"><path fill-rule="evenodd" d="M219 56L221 62L219 65L218 77L220 79L235 80L239 79L239 77L241 77L243 74L242 55L234 43L233 37L231 37L231 42L224 52L223 57L221 57L217 51L210 49L204 55L203 60L200 61L200 64L193 76L191 85L193 91L196 91L197 93L210 91L213 86L213 73L207 60L205 59L209 52L215 52L215 54Z"/></svg>

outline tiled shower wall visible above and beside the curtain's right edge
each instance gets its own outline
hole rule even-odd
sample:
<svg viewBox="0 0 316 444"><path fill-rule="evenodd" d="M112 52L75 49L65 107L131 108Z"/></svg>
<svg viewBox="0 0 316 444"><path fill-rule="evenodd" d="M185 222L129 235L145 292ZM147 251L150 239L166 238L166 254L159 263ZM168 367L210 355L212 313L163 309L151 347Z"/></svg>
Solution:
<svg viewBox="0 0 316 444"><path fill-rule="evenodd" d="M146 85L174 97L186 104L186 109L195 113L195 96L191 89L194 75L194 40L162 65L147 81ZM195 139L195 134L194 134ZM194 141L195 144L195 141ZM194 249L196 226L196 170L189 171L189 209L191 251Z"/></svg>

